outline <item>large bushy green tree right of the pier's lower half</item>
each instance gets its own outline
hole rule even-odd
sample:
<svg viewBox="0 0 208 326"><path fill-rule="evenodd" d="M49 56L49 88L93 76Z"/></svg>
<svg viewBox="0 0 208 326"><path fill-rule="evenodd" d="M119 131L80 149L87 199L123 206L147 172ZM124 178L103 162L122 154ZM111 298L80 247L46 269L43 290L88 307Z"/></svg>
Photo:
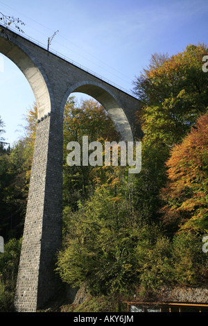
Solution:
<svg viewBox="0 0 208 326"><path fill-rule="evenodd" d="M134 216L108 185L97 187L80 209L66 212L64 249L56 271L64 282L85 282L92 293L119 293L136 282Z"/></svg>

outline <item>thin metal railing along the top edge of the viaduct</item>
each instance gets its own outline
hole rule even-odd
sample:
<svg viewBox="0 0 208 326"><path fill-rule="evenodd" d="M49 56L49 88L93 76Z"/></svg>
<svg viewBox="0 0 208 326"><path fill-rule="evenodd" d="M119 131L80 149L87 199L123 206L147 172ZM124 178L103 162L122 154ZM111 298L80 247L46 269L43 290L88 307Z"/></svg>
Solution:
<svg viewBox="0 0 208 326"><path fill-rule="evenodd" d="M30 41L30 42L33 42L34 44L40 46L42 49L48 51L48 50L47 50L47 46L46 46L45 44L43 44L42 42L39 42L39 41L33 39L33 37L28 36L28 35L26 35L25 33L24 33L24 35L23 35L23 33L22 33L21 31L19 31L18 29L12 28L12 27L10 27L10 26L9 26L9 27L8 27L8 26L4 26L4 25L2 25L2 24L0 24L0 26L3 27L3 28L8 29L9 31L12 31L13 33L16 33L16 34L20 35L20 36L23 37L24 39L26 39L26 40L28 40L28 41ZM49 52L50 52L50 53L53 53L53 54L55 54L55 55L57 55L59 58L62 58L62 59L65 60L65 61L71 63L71 65L74 65L74 66L76 66L76 67L78 67L78 68L80 68L80 69L86 71L88 74L91 74L92 76L94 76L94 77L96 77L96 78L99 78L99 79L103 80L105 83L108 83L109 85L111 85L111 86L113 86L113 87L116 87L117 89L121 90L122 92L124 92L124 93L126 93L126 94L128 94L128 95L130 95L130 96L136 98L135 94L134 94L132 91L130 91L130 90L128 90L128 89L125 89L125 88L123 88L123 87L117 85L116 83L113 83L111 80L109 80L109 79L107 79L107 78L105 78L105 77L103 77L103 76L101 76L101 75L99 75L99 74L96 74L94 71L92 71L92 70L90 70L90 69L84 67L83 65L80 65L78 62L76 62L76 61L74 61L74 60L71 60L71 59L67 58L67 56L63 55L62 53L59 53L58 51L53 50L53 49L50 49Z"/></svg>

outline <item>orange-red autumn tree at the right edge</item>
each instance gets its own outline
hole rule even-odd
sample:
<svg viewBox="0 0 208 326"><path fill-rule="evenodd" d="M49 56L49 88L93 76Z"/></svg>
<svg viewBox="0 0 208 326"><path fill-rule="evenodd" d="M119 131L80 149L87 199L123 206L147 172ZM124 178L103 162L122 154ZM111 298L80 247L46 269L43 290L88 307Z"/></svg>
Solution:
<svg viewBox="0 0 208 326"><path fill-rule="evenodd" d="M166 162L163 221L172 230L208 232L208 114L202 115Z"/></svg>

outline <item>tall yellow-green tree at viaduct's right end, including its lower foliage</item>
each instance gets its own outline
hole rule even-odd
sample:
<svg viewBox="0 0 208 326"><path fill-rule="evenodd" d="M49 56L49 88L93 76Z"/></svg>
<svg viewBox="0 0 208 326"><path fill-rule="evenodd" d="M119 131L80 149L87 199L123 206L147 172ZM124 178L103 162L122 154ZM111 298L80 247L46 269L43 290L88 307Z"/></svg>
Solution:
<svg viewBox="0 0 208 326"><path fill-rule="evenodd" d="M144 131L142 169L137 175L137 209L144 218L159 220L160 189L166 185L166 160L208 106L208 74L202 71L204 44L189 45L169 57L155 53L135 80L142 101L138 119Z"/></svg>

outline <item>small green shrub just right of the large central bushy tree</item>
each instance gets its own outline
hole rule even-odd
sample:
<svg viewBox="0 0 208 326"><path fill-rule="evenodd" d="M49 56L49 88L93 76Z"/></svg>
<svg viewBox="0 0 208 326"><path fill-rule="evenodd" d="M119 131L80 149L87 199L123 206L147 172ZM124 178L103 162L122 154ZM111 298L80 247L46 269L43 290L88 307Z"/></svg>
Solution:
<svg viewBox="0 0 208 326"><path fill-rule="evenodd" d="M144 290L157 290L173 280L171 268L171 241L164 236L160 225L144 223L137 233L134 268Z"/></svg>

